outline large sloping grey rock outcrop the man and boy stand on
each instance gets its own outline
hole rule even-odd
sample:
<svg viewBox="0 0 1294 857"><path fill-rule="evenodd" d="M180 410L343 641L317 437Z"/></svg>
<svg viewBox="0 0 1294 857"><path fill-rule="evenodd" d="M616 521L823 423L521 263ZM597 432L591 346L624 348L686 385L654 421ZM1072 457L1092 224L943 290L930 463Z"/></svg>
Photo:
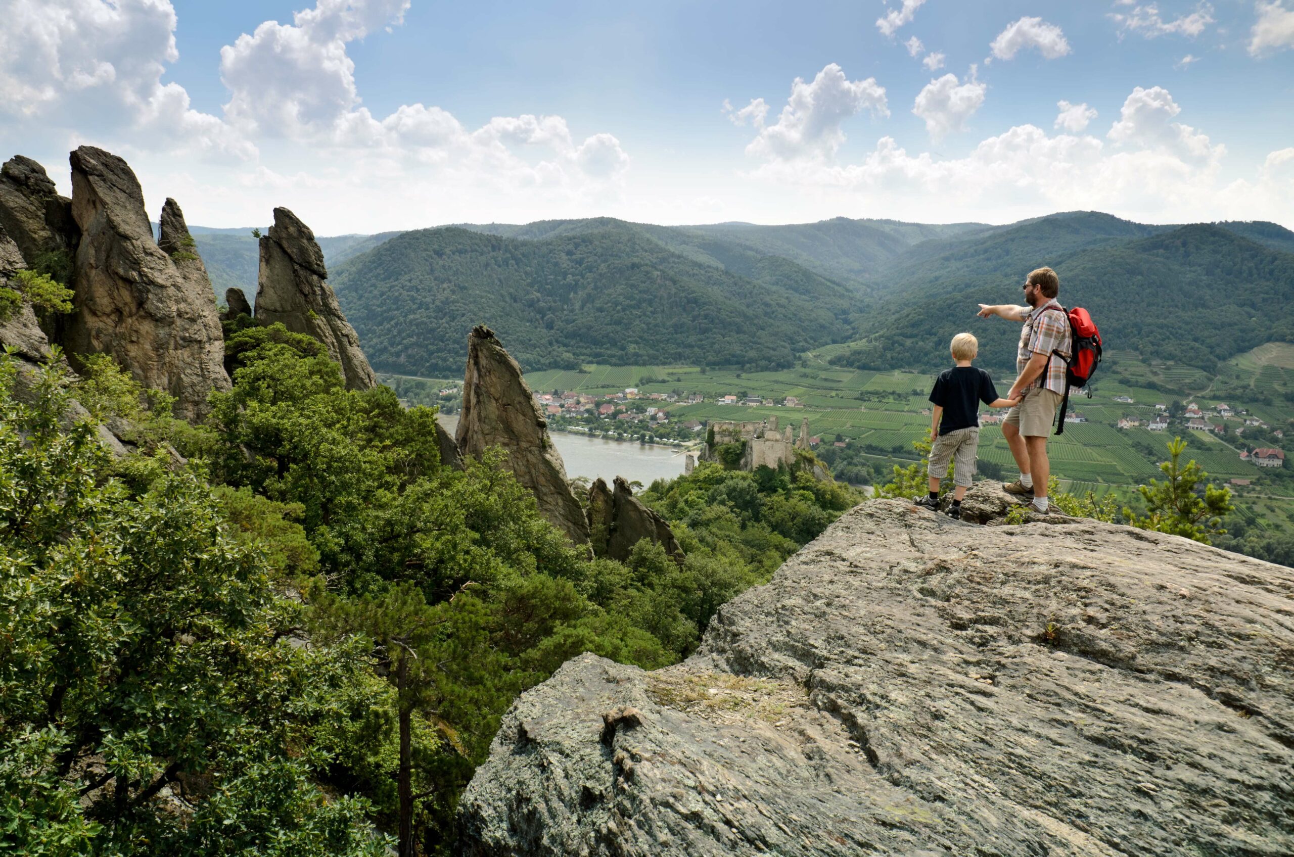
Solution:
<svg viewBox="0 0 1294 857"><path fill-rule="evenodd" d="M1294 570L867 502L656 672L503 718L463 854L1294 853Z"/></svg>

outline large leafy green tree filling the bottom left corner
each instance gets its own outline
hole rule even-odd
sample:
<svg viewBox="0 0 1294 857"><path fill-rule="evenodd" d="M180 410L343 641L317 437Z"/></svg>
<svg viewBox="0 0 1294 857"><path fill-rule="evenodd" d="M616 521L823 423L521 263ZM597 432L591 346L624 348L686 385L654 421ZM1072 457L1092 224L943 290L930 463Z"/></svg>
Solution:
<svg viewBox="0 0 1294 857"><path fill-rule="evenodd" d="M289 643L300 606L197 474L131 492L89 423L63 427L57 368L31 405L13 377L0 365L0 851L382 853L366 803L311 781L362 654Z"/></svg>

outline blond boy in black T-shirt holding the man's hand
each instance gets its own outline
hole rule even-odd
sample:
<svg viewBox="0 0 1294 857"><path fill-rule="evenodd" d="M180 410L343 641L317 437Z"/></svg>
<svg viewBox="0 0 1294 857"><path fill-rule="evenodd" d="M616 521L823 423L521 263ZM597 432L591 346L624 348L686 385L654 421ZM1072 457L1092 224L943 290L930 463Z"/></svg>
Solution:
<svg viewBox="0 0 1294 857"><path fill-rule="evenodd" d="M980 340L968 333L952 337L952 360L956 364L936 378L930 391L934 410L930 416L930 493L916 500L917 506L939 507L939 478L955 462L952 505L949 515L961 518L961 498L974 476L976 452L980 448L980 403L990 408L1011 408L1013 399L998 397L992 379L983 369L970 365L980 352Z"/></svg>

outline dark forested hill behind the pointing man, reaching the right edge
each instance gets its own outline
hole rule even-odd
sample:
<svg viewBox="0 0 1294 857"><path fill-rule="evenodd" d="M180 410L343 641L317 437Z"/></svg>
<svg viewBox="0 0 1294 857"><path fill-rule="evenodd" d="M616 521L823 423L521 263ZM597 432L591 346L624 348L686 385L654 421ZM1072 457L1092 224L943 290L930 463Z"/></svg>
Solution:
<svg viewBox="0 0 1294 857"><path fill-rule="evenodd" d="M1266 227L1268 243L1278 243L1280 227ZM897 269L890 294L863 321L864 338L833 362L934 368L947 361L952 335L970 330L981 362L1012 368L1020 329L974 313L980 303L1022 303L1025 276L1043 264L1060 274L1061 303L1092 312L1106 348L1211 372L1232 355L1294 338L1294 255L1225 224L1162 228L1057 216Z"/></svg>

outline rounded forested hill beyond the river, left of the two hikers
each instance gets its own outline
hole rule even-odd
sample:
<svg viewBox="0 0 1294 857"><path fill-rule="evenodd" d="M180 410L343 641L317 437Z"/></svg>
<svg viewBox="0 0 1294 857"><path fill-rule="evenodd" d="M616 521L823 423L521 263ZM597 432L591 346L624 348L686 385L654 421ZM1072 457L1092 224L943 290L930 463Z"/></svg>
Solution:
<svg viewBox="0 0 1294 857"><path fill-rule="evenodd" d="M373 365L458 373L466 333L493 328L527 369L585 362L778 368L842 342L855 293L784 259L747 276L635 229L518 239L443 228L405 233L333 271Z"/></svg>

